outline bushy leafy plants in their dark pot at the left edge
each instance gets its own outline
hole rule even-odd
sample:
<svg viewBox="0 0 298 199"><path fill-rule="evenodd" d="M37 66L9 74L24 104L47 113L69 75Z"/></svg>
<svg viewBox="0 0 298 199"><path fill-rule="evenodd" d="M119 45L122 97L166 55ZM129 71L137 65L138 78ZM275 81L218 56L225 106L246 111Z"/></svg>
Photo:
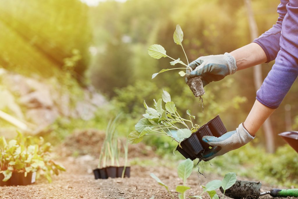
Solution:
<svg viewBox="0 0 298 199"><path fill-rule="evenodd" d="M36 173L44 175L49 182L52 174L65 168L50 158L52 146L42 137L36 142L31 136L23 138L18 132L8 143L0 137L0 186L28 185L35 182Z"/></svg>

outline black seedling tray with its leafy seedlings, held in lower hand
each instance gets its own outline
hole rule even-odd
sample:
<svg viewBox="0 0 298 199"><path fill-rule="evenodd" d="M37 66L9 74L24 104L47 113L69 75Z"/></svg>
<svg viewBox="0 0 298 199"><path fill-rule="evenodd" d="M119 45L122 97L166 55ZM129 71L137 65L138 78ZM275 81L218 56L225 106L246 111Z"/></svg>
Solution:
<svg viewBox="0 0 298 199"><path fill-rule="evenodd" d="M193 123L195 116L190 114L190 110L186 111L189 119L182 118L177 112L176 105L171 101L170 94L165 90L161 99L157 102L154 100L155 109L148 107L145 101L144 107L146 108L144 118L128 135L130 144L141 142L145 136L162 135L178 142L173 152L177 149L185 158L194 160L199 158L200 152L210 147L202 141L204 135L219 137L227 132L218 115L202 127Z"/></svg>

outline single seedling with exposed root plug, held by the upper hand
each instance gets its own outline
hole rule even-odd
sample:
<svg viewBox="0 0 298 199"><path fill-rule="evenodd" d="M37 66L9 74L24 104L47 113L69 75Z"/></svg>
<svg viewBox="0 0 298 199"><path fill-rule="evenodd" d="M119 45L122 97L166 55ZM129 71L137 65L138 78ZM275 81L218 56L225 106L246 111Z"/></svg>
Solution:
<svg viewBox="0 0 298 199"><path fill-rule="evenodd" d="M172 66L174 66L175 64L181 64L184 66L184 68L168 68L168 69L162 69L161 71L157 72L157 73L154 73L152 75L152 79L156 77L156 75L158 75L159 73L162 73L162 72L166 72L168 70L176 70L176 69L188 69L190 71L192 71L193 69L191 67L189 67L189 62L188 62L188 58L186 56L186 53L184 51L184 48L183 48L183 45L182 45L182 41L183 41L183 31L180 27L179 24L176 25L176 30L174 32L174 35L173 35L173 39L174 39L174 42L177 44L177 45L180 45L182 47L182 50L183 50L183 53L185 55L185 58L186 58L186 61L187 61L187 65L184 64L183 61L180 60L180 58L178 59L174 59L172 57L170 57L169 55L167 55L167 52L166 50L164 49L164 47L162 47L161 45L159 44L153 44L151 45L149 48L148 48L148 54L153 57L153 58L156 58L156 59L160 59L162 57L168 57L170 59L172 59L173 61L170 62L170 64ZM180 76L185 76L186 73L184 71L180 71L179 72L179 75ZM187 85L190 87L190 90L193 92L193 95L195 95L195 97L200 97L201 101L202 101L202 98L201 98L201 95L204 95L205 93L205 90L203 88L203 83L202 83L202 80L201 80L201 76L200 77L195 77L195 78L190 78L188 81L187 81Z"/></svg>

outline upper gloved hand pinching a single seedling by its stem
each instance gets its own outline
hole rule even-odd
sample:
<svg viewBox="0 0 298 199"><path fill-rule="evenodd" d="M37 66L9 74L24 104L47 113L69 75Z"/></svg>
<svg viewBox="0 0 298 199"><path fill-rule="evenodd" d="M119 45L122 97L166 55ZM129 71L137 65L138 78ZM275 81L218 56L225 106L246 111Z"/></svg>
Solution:
<svg viewBox="0 0 298 199"><path fill-rule="evenodd" d="M236 60L229 53L199 57L191 62L189 66L193 71L190 72L190 69L186 70L185 82L190 78L202 76L203 87L212 81L219 81L226 75L232 75L237 71Z"/></svg>

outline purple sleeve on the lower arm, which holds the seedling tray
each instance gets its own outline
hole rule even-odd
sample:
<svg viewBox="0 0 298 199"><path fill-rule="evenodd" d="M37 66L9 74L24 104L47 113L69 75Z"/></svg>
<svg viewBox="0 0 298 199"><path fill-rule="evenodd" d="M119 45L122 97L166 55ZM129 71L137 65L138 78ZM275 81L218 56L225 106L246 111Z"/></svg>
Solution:
<svg viewBox="0 0 298 199"><path fill-rule="evenodd" d="M298 75L298 1L286 5L280 36L280 50L275 64L257 91L257 100L269 108L277 108Z"/></svg>

